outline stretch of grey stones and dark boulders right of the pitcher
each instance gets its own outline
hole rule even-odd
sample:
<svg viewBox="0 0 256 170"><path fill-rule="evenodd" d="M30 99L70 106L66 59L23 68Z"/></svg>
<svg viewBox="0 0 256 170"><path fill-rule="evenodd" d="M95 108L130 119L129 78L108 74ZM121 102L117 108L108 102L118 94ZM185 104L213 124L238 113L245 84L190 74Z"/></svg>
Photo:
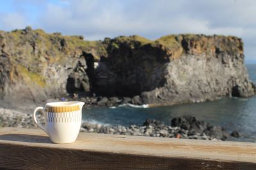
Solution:
<svg viewBox="0 0 256 170"><path fill-rule="evenodd" d="M223 141L230 136L223 127L214 126L204 121L198 121L195 117L173 118L171 122L171 125L166 125L163 124L163 122L148 119L141 126L130 125L129 127L121 125L106 126L84 122L81 125L81 131L105 134Z"/></svg>

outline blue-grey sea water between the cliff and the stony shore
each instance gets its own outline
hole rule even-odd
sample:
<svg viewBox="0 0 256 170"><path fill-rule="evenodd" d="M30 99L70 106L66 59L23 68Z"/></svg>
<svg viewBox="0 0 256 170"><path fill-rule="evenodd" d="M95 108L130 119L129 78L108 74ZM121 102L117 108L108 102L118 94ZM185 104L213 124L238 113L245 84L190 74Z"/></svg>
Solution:
<svg viewBox="0 0 256 170"><path fill-rule="evenodd" d="M250 80L256 83L256 64L246 65ZM256 141L256 96L249 98L224 98L218 101L180 104L157 108L88 108L83 110L83 121L107 125L142 125L146 119L156 119L170 124L174 117L191 115L213 125L220 125L226 131L241 133L241 138L229 140Z"/></svg>

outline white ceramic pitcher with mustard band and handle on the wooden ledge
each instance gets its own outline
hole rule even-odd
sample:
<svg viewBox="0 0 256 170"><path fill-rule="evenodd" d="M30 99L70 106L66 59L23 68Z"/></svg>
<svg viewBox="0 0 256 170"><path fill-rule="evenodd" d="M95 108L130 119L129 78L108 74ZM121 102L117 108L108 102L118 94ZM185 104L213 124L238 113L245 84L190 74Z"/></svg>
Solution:
<svg viewBox="0 0 256 170"><path fill-rule="evenodd" d="M79 134L83 105L79 101L47 103L45 108L35 109L33 120L49 135L53 143L72 143ZM36 120L38 110L42 110L45 115L45 126Z"/></svg>

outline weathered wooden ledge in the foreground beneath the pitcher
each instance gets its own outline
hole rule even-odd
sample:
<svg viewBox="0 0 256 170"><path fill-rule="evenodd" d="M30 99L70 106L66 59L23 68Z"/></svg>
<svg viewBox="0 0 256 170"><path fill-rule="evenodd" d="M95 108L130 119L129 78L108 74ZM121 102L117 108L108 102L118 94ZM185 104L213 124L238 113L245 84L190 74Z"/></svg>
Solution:
<svg viewBox="0 0 256 170"><path fill-rule="evenodd" d="M256 144L80 133L51 143L39 129L0 129L0 169L256 169Z"/></svg>

